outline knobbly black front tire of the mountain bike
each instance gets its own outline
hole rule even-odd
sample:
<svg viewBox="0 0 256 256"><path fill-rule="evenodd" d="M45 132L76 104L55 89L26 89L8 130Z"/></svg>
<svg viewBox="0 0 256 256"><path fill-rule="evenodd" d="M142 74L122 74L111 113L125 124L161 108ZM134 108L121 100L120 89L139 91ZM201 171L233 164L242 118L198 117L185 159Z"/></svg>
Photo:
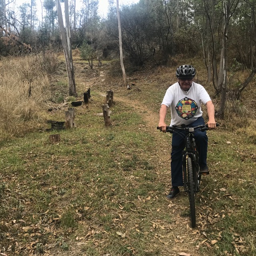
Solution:
<svg viewBox="0 0 256 256"><path fill-rule="evenodd" d="M190 204L190 218L191 226L194 228L196 226L196 205L195 205L195 190L194 190L194 178L193 178L193 166L192 159L187 158L187 170L188 170L188 198Z"/></svg>

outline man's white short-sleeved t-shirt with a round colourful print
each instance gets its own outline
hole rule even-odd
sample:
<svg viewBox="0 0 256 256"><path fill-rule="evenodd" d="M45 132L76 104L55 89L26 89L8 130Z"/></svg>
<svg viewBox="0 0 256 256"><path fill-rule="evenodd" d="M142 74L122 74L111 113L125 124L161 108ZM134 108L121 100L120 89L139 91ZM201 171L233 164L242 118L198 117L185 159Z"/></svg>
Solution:
<svg viewBox="0 0 256 256"><path fill-rule="evenodd" d="M201 104L209 100L211 98L202 85L192 82L188 92L185 92L176 82L167 89L162 104L171 109L170 125L181 126L191 124L202 116Z"/></svg>

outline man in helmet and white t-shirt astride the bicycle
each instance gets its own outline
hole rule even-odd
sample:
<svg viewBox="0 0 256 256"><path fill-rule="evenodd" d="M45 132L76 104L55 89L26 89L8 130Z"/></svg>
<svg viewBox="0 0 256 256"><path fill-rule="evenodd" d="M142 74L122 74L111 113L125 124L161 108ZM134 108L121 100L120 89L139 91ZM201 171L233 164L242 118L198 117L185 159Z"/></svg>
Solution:
<svg viewBox="0 0 256 256"><path fill-rule="evenodd" d="M202 117L201 104L205 104L208 113L209 130L216 128L214 118L214 105L209 94L200 84L193 82L196 70L191 65L179 66L176 70L178 82L172 84L166 91L159 111L158 127L162 132L166 132L165 117L167 109L171 110L170 126L188 126L195 127L204 123ZM199 154L199 166L202 174L209 174L206 164L208 138L206 132L194 133L196 147ZM180 134L172 134L172 152L171 152L171 176L172 188L166 196L168 199L174 198L179 192L179 186L183 186L182 177L182 150L184 149L184 137Z"/></svg>

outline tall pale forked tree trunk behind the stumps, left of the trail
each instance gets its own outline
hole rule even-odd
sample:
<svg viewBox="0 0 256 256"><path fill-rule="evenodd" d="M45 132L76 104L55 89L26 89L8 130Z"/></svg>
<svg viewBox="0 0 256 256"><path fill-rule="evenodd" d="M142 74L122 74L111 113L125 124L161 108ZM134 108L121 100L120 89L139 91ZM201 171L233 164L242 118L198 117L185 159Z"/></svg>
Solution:
<svg viewBox="0 0 256 256"><path fill-rule="evenodd" d="M57 12L58 12L58 21L59 21L59 26L60 26L61 41L62 41L62 46L63 46L63 49L64 49L64 55L65 55L65 59L66 59L66 69L67 69L68 80L69 80L69 95L70 96L77 96L74 69L73 69L73 62L72 62L72 51L71 51L72 49L71 49L71 41L70 41L69 15L68 15L68 10L66 10L66 5L68 5L68 0L65 0L66 24L68 22L68 28L66 28L66 32L65 32L65 28L64 28L64 24L63 24L60 0L56 0L56 4L57 4Z"/></svg>

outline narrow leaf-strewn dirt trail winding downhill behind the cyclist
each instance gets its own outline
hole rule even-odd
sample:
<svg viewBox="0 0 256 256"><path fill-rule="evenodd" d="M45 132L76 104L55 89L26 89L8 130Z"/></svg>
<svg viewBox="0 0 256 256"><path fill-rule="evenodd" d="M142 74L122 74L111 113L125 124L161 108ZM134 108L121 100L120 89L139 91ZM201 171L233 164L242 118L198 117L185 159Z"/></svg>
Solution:
<svg viewBox="0 0 256 256"><path fill-rule="evenodd" d="M106 84L111 84L113 78L106 75L105 71L99 72L98 76L95 76L91 72L90 77L86 77L86 74L81 73L81 66L77 67L80 72L77 71L76 83L85 86L86 88L91 88L97 91L99 94L104 95L104 89ZM81 75L79 75L81 74ZM86 82L85 78L86 77ZM108 82L110 80L110 82ZM114 83L113 83L114 84ZM108 89L108 88L106 88ZM122 90L126 90L122 88ZM202 245L201 240L204 240L201 230L190 228L190 218L188 216L184 217L184 211L189 210L187 195L182 192L174 200L168 200L165 195L168 194L170 189L170 134L162 134L160 131L156 130L158 124L158 114L152 112L148 107L146 107L142 102L136 100L129 100L122 96L122 94L114 91L114 102L122 102L126 106L134 108L134 112L142 116L145 121L145 129L155 138L156 142L159 142L159 149L156 148L155 159L158 162L158 177L161 179L163 184L166 184L165 194L162 195L161 204L159 206L160 210L166 211L170 214L171 225L168 230L165 230L162 234L159 231L158 240L162 243L161 255L180 255L180 252L186 252L191 256L207 256L207 254L200 254L199 248ZM163 203L162 203L163 202ZM162 237L162 238L161 238Z"/></svg>

